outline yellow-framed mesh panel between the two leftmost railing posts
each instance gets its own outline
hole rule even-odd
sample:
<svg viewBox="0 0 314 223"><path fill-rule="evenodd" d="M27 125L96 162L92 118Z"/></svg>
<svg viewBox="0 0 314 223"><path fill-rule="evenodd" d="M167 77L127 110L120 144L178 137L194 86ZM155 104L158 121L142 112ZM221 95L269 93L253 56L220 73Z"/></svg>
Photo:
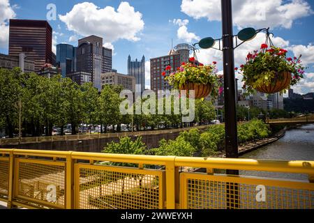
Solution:
<svg viewBox="0 0 314 223"><path fill-rule="evenodd" d="M42 206L64 208L65 166L63 162L18 160L16 197Z"/></svg>

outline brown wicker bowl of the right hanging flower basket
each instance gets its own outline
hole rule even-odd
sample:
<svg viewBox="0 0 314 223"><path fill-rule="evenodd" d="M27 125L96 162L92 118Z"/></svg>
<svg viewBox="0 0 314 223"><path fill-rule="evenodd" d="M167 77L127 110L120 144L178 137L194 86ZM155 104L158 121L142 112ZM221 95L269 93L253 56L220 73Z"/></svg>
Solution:
<svg viewBox="0 0 314 223"><path fill-rule="evenodd" d="M262 93L276 93L282 91L283 89L287 89L287 86L290 85L291 79L291 72L279 72L276 73L276 77L271 80L271 84L269 84L269 86L258 86L255 90Z"/></svg>

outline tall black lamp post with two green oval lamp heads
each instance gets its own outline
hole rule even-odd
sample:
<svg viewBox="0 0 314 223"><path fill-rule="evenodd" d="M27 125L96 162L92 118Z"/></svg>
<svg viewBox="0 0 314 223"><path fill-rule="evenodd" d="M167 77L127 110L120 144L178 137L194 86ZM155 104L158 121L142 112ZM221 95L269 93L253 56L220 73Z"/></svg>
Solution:
<svg viewBox="0 0 314 223"><path fill-rule="evenodd" d="M228 158L238 157L238 136L237 136L237 102L235 89L234 74L234 49L242 45L248 40L255 38L257 33L266 31L269 36L268 29L246 28L237 35L233 35L232 25L232 0L221 0L221 13L223 24L223 37L214 39L211 37L203 38L199 43L202 49L214 48L223 52L223 78L224 78L224 95L225 95L225 152ZM235 47L234 47L235 40ZM241 40L241 43L239 43ZM218 42L218 48L214 47ZM228 170L227 174L238 175L239 171Z"/></svg>

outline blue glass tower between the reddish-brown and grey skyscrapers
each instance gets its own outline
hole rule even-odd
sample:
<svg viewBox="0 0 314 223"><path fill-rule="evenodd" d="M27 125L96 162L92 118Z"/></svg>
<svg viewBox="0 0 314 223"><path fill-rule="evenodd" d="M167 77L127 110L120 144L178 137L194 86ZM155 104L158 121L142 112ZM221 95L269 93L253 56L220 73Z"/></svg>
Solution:
<svg viewBox="0 0 314 223"><path fill-rule="evenodd" d="M73 45L57 45L57 65L61 68L62 77L76 72L76 51L77 47L73 47Z"/></svg>

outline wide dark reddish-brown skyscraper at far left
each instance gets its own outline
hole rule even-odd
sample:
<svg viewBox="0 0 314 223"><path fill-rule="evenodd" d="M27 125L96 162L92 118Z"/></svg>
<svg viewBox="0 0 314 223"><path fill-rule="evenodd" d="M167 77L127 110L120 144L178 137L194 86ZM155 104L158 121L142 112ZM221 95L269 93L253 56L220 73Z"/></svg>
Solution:
<svg viewBox="0 0 314 223"><path fill-rule="evenodd" d="M9 55L24 53L35 63L35 71L53 63L52 28L45 20L10 20Z"/></svg>

